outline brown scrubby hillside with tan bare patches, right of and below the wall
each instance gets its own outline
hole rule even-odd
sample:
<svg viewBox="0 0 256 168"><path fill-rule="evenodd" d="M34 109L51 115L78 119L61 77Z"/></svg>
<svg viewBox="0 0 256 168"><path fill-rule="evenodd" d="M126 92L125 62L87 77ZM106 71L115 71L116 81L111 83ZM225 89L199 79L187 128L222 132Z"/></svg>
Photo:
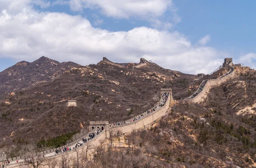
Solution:
<svg viewBox="0 0 256 168"><path fill-rule="evenodd" d="M256 167L256 71L235 71L200 103L175 101L153 128L126 136L139 158L160 167Z"/></svg>

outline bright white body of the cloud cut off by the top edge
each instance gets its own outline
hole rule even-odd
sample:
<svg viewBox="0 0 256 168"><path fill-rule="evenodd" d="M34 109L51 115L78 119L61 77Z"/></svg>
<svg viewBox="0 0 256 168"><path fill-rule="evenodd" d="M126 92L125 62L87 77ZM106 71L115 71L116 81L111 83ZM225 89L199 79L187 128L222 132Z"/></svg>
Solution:
<svg viewBox="0 0 256 168"><path fill-rule="evenodd" d="M100 9L108 17L161 16L171 0L70 0L71 9Z"/></svg>

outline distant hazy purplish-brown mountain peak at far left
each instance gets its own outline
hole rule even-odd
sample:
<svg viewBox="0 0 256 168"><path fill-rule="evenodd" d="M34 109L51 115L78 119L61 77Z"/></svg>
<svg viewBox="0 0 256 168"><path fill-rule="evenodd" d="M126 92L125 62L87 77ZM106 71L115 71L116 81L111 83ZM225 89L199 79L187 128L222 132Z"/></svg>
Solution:
<svg viewBox="0 0 256 168"><path fill-rule="evenodd" d="M64 71L79 64L59 63L47 57L41 57L32 63L21 61L0 72L0 98L29 86L58 78Z"/></svg>

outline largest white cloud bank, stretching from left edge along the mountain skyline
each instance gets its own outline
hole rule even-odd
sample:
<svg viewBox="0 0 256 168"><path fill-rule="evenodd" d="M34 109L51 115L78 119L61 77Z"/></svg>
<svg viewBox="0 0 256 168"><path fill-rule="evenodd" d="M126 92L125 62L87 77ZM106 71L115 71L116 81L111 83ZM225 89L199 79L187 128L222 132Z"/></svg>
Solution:
<svg viewBox="0 0 256 168"><path fill-rule="evenodd" d="M99 62L102 57L135 63L145 57L165 68L195 74L211 72L228 57L227 53L214 48L191 44L177 31L138 27L111 32L94 28L81 16L38 13L31 8L18 13L2 10L0 29L0 57L18 61L46 56L88 65Z"/></svg>

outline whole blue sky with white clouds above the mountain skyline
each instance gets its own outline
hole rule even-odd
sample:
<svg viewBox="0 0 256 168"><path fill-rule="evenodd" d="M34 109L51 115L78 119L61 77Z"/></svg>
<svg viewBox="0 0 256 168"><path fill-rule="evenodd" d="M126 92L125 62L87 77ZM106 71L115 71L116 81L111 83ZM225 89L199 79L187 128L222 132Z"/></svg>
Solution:
<svg viewBox="0 0 256 168"><path fill-rule="evenodd" d="M233 57L256 68L255 5L239 0L3 0L0 71L41 56L82 65L102 57L118 62L145 57L192 74L209 73Z"/></svg>

